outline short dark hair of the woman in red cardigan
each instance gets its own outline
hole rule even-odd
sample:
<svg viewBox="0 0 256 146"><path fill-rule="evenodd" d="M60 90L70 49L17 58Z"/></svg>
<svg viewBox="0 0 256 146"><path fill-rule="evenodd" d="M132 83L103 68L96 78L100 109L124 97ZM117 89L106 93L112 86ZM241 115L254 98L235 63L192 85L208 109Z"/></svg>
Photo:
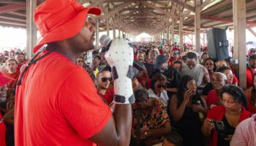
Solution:
<svg viewBox="0 0 256 146"><path fill-rule="evenodd" d="M231 96L233 96L235 101L237 101L239 104L244 106L244 108L246 110L248 110L246 96L244 94L244 91L240 87L238 87L236 85L225 85L222 88L222 95L223 95L223 93L228 93Z"/></svg>

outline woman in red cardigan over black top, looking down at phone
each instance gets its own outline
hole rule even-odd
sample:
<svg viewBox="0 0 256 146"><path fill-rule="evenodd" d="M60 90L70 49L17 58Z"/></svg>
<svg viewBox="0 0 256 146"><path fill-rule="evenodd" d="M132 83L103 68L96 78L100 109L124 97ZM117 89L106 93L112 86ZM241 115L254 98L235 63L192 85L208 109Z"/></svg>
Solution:
<svg viewBox="0 0 256 146"><path fill-rule="evenodd" d="M204 136L210 139L209 146L229 146L238 123L250 117L250 112L246 110L246 96L238 86L224 86L221 101L222 105L208 111L201 128ZM214 123L217 123L215 129ZM219 128L224 130L220 131Z"/></svg>

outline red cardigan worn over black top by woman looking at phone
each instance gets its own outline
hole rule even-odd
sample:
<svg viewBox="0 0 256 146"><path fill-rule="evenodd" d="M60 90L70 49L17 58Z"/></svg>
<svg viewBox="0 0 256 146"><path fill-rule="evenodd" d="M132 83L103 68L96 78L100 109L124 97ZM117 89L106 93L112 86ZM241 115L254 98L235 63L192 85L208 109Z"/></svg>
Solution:
<svg viewBox="0 0 256 146"><path fill-rule="evenodd" d="M242 111L238 123L241 123L241 121L250 117L250 112L245 110L244 107L241 108ZM209 118L211 120L222 120L223 116L225 115L225 112L226 109L222 105L213 107L211 110L208 111L206 118ZM209 146L217 146L217 137L217 131L213 130L213 136L211 138Z"/></svg>

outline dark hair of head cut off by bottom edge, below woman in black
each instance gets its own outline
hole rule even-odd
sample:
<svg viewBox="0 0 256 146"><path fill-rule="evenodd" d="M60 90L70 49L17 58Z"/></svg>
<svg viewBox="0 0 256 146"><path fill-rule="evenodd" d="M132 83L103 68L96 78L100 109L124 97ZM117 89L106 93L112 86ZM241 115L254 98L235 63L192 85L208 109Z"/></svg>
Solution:
<svg viewBox="0 0 256 146"><path fill-rule="evenodd" d="M183 143L181 135L176 131L170 131L169 133L165 134L165 139L167 142L170 142L176 146L181 146Z"/></svg>

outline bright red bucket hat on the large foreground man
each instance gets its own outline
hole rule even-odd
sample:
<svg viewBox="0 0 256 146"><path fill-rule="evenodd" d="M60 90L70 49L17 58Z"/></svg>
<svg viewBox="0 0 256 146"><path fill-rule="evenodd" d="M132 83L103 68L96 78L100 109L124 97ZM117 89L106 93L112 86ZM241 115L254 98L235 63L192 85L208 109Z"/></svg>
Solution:
<svg viewBox="0 0 256 146"><path fill-rule="evenodd" d="M34 47L36 53L42 45L74 37L83 28L88 14L100 15L98 7L83 7L76 0L47 0L34 11L42 39Z"/></svg>

